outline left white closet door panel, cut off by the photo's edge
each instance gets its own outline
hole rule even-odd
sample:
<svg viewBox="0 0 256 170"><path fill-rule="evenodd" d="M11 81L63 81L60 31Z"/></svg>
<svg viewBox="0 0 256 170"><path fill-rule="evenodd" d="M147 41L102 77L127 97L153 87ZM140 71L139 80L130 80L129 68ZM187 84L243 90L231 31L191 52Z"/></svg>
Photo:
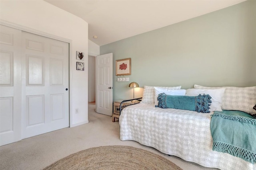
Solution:
<svg viewBox="0 0 256 170"><path fill-rule="evenodd" d="M21 140L21 31L0 25L0 145Z"/></svg>

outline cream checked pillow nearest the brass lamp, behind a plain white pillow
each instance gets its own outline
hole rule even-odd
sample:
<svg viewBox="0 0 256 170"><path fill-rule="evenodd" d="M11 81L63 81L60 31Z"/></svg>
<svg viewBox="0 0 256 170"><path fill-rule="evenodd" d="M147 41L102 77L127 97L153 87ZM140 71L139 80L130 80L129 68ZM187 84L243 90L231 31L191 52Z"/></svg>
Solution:
<svg viewBox="0 0 256 170"><path fill-rule="evenodd" d="M157 86L159 87L159 86ZM160 87L170 90L178 90L181 86L176 87ZM155 103L155 89L154 86L144 86L143 97L141 103L154 104Z"/></svg>

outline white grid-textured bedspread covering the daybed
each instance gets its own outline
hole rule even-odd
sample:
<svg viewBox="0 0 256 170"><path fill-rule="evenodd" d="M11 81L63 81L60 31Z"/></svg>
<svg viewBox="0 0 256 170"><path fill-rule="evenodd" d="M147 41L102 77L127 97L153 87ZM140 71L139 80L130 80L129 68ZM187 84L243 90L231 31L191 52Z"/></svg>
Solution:
<svg viewBox="0 0 256 170"><path fill-rule="evenodd" d="M221 170L256 170L256 164L212 151L211 113L161 109L136 104L122 110L120 139L133 140L165 154Z"/></svg>

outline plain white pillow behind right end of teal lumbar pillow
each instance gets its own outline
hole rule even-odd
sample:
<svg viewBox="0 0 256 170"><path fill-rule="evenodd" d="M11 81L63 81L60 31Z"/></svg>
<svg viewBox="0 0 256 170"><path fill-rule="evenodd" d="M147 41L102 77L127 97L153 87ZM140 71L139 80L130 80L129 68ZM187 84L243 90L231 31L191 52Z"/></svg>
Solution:
<svg viewBox="0 0 256 170"><path fill-rule="evenodd" d="M219 89L195 89L190 88L186 90L186 96L198 96L199 94L209 94L212 98L212 103L210 104L210 111L222 111L221 104L222 98L225 92L225 88Z"/></svg>

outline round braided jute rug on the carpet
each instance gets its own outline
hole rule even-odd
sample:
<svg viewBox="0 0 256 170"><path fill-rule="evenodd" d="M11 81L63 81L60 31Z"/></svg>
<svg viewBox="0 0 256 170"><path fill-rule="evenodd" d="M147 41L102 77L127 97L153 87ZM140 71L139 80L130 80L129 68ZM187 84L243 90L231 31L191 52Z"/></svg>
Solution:
<svg viewBox="0 0 256 170"><path fill-rule="evenodd" d="M128 146L96 147L71 154L44 170L182 170L170 160Z"/></svg>

